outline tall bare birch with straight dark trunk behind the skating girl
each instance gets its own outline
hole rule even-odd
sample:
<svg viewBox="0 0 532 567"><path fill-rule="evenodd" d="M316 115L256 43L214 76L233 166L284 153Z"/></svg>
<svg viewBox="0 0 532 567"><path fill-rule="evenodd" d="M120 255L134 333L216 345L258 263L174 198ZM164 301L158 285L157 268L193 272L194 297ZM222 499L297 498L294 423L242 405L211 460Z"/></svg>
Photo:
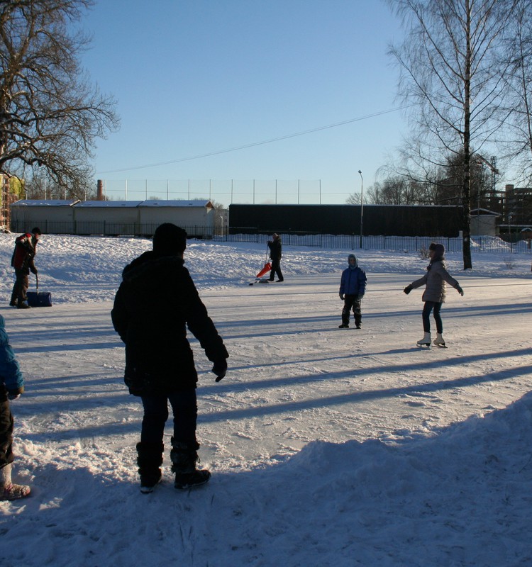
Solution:
<svg viewBox="0 0 532 567"><path fill-rule="evenodd" d="M499 47L517 0L388 0L406 38L390 53L401 71L399 93L411 103L419 157L462 156L464 269L472 267L471 155L504 123Z"/></svg>

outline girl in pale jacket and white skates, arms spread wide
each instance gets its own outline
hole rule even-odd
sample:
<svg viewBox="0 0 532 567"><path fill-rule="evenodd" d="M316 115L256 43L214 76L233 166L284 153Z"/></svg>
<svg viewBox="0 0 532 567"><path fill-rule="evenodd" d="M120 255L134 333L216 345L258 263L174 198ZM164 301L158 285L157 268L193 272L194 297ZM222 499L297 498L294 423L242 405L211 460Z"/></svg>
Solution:
<svg viewBox="0 0 532 567"><path fill-rule="evenodd" d="M449 283L455 288L461 296L464 291L448 271L445 269L445 247L443 244L436 244L432 242L428 247L428 257L431 259L427 266L427 273L416 281L413 281L404 288L404 293L407 295L414 289L421 286L426 286L421 301L425 302L423 305L423 338L417 342L419 347L431 346L431 312L433 312L434 321L436 322L436 339L434 344L437 347L445 347L445 340L443 340L443 322L441 320L440 309L445 301L445 282Z"/></svg>

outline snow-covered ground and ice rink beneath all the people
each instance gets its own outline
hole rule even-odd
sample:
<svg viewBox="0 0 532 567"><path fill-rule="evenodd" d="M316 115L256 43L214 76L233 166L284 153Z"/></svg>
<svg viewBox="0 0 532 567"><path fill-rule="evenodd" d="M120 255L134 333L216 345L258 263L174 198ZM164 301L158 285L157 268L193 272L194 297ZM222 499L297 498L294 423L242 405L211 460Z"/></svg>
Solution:
<svg viewBox="0 0 532 567"><path fill-rule="evenodd" d="M40 291L8 307L16 235L0 235L0 313L26 378L13 402L2 567L531 566L531 254L461 254L448 269L448 349L419 349L427 261L360 252L362 330L338 330L349 250L284 247L284 283L248 286L265 243L189 243L186 266L230 354L191 339L205 487L138 490L138 398L109 312L149 240L45 235ZM33 278L33 276L32 276ZM34 281L34 279L33 279ZM168 288L167 294L172 293ZM160 301L165 301L161 296Z"/></svg>

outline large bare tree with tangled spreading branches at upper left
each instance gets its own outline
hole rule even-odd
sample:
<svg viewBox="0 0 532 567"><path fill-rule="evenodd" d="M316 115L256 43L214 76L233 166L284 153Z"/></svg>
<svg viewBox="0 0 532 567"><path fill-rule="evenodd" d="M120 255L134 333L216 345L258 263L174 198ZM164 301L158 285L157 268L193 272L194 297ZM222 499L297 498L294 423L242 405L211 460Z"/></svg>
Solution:
<svg viewBox="0 0 532 567"><path fill-rule="evenodd" d="M112 97L79 64L89 40L76 26L92 3L0 2L0 172L31 179L41 168L70 196L87 183L96 138L118 125Z"/></svg>

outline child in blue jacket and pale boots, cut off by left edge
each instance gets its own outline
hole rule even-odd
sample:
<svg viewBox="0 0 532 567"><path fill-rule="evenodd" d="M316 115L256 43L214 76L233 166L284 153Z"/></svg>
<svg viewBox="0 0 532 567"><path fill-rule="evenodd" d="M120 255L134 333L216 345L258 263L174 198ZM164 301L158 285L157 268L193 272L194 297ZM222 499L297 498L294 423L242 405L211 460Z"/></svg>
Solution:
<svg viewBox="0 0 532 567"><path fill-rule="evenodd" d="M13 463L13 415L10 400L24 391L24 378L9 344L6 322L0 315L0 500L16 500L30 493L30 487L11 482Z"/></svg>

